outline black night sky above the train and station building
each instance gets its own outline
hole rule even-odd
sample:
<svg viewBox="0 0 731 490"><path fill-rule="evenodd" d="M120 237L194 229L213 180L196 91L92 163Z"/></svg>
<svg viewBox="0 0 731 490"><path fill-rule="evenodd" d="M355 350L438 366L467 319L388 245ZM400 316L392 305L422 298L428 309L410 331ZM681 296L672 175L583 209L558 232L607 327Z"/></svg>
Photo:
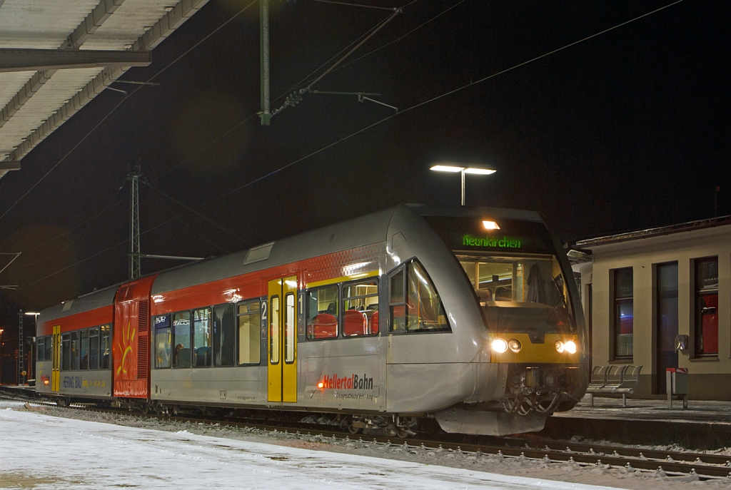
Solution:
<svg viewBox="0 0 731 490"><path fill-rule="evenodd" d="M403 111L670 3L413 1L314 89L380 93ZM124 78L150 79L246 4L209 2ZM271 9L273 99L390 15L313 0ZM565 241L712 217L716 185L729 214L730 13L686 0L404 113L306 94L263 127L254 4L20 202L124 96L97 96L0 180L0 214L18 202L0 219L0 252L23 252L0 275L20 286L0 305L39 310L127 277L125 176L138 158L159 191L140 190L143 253L219 256L401 202L459 204L459 176L429 171L440 160L498 169L468 175L467 204L537 210ZM176 264L146 260L143 273Z"/></svg>

